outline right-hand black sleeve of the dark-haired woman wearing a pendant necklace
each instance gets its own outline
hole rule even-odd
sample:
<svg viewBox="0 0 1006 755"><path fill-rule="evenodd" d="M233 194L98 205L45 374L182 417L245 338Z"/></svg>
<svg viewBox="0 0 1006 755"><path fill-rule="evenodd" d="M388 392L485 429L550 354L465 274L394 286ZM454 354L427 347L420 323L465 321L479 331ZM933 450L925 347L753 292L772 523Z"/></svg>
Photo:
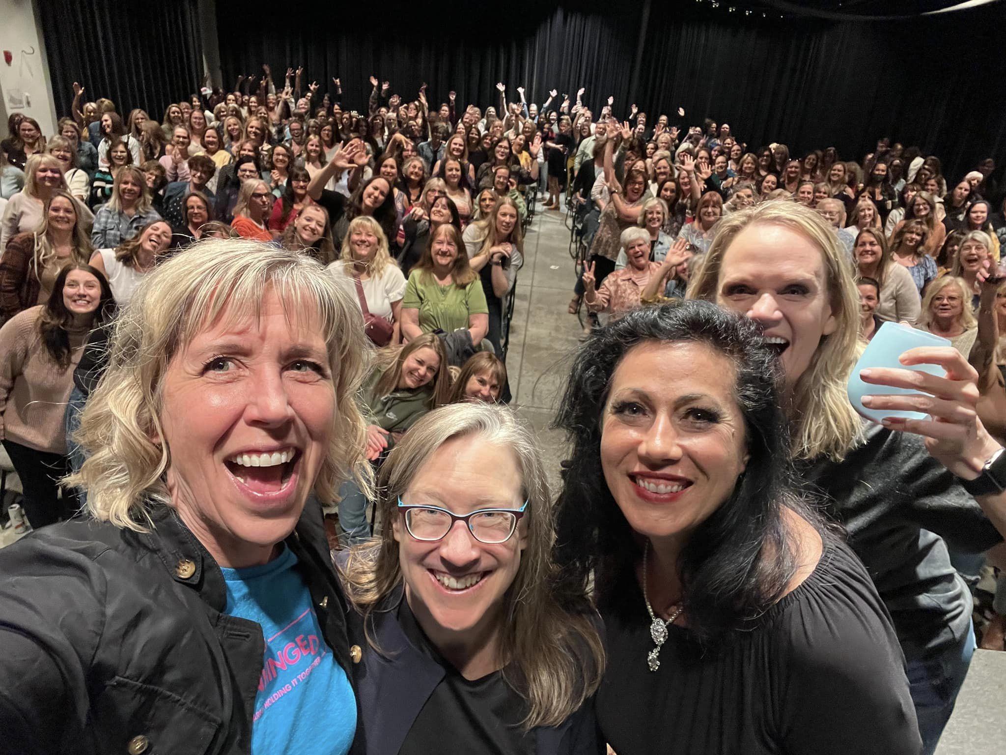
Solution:
<svg viewBox="0 0 1006 755"><path fill-rule="evenodd" d="M773 697L782 750L917 755L921 741L904 660L883 604L851 552L826 552L822 564L829 558L842 566L825 567L827 579L814 585L809 578L798 588L809 594L781 618Z"/></svg>

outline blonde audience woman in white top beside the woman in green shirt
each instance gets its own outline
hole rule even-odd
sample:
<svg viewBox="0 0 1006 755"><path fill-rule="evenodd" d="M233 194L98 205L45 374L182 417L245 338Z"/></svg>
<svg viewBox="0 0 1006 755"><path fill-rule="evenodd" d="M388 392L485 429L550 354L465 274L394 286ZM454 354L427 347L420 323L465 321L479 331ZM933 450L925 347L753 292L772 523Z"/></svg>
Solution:
<svg viewBox="0 0 1006 755"><path fill-rule="evenodd" d="M405 276L388 252L387 238L380 223L369 215L349 221L342 240L339 260L328 266L336 282L352 295L362 314L383 318L391 328L390 336L379 346L401 340L401 300L405 295ZM375 341L376 342L376 341Z"/></svg>

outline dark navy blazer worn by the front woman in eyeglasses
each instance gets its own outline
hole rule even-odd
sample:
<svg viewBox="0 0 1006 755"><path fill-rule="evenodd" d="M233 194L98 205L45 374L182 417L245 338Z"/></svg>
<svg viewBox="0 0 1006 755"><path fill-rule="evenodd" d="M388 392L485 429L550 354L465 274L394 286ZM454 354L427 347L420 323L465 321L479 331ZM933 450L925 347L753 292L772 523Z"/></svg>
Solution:
<svg viewBox="0 0 1006 755"><path fill-rule="evenodd" d="M363 619L349 608L349 641L359 645L362 659L353 665L361 719L357 740L363 739L366 755L397 755L416 716L444 678L437 661L416 648L398 623L397 606L402 591L388 596L382 610L371 613L370 636L381 652L371 647L363 633ZM538 727L536 755L604 755L594 715L594 699L556 727Z"/></svg>

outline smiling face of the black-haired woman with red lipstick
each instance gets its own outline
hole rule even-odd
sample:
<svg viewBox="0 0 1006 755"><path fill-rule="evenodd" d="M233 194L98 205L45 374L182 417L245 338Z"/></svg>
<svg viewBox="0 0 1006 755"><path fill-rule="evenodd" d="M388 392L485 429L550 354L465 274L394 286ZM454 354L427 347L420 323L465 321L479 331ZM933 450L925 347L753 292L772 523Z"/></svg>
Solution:
<svg viewBox="0 0 1006 755"><path fill-rule="evenodd" d="M701 343L644 341L612 375L601 466L629 525L681 542L727 499L746 463L733 363Z"/></svg>

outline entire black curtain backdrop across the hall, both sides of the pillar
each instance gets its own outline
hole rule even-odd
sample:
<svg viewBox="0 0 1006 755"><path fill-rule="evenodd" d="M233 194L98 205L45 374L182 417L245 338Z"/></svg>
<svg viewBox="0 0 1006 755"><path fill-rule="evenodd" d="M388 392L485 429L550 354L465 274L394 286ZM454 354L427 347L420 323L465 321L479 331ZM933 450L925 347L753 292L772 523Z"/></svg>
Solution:
<svg viewBox="0 0 1006 755"><path fill-rule="evenodd" d="M73 81L89 100L106 95L121 112L143 107L158 119L194 92L203 74L196 4L169 0L131 14L112 0L40 2L60 115ZM216 0L216 11L225 89L239 72L261 77L263 62L278 87L299 64L305 87L317 80L321 93L339 77L344 106L361 111L371 73L403 100L426 82L432 108L451 90L460 104L496 105L498 81L508 99L523 85L539 105L549 89L574 98L582 86L596 114L609 95L620 117L637 102L674 122L683 107L686 124L727 121L751 148L834 146L858 160L889 136L939 155L954 180L986 155L1006 160L1004 5L874 22L763 19L771 6L740 0L733 13L728 0L717 9L708 0L301 0L290 13L273 0Z"/></svg>

